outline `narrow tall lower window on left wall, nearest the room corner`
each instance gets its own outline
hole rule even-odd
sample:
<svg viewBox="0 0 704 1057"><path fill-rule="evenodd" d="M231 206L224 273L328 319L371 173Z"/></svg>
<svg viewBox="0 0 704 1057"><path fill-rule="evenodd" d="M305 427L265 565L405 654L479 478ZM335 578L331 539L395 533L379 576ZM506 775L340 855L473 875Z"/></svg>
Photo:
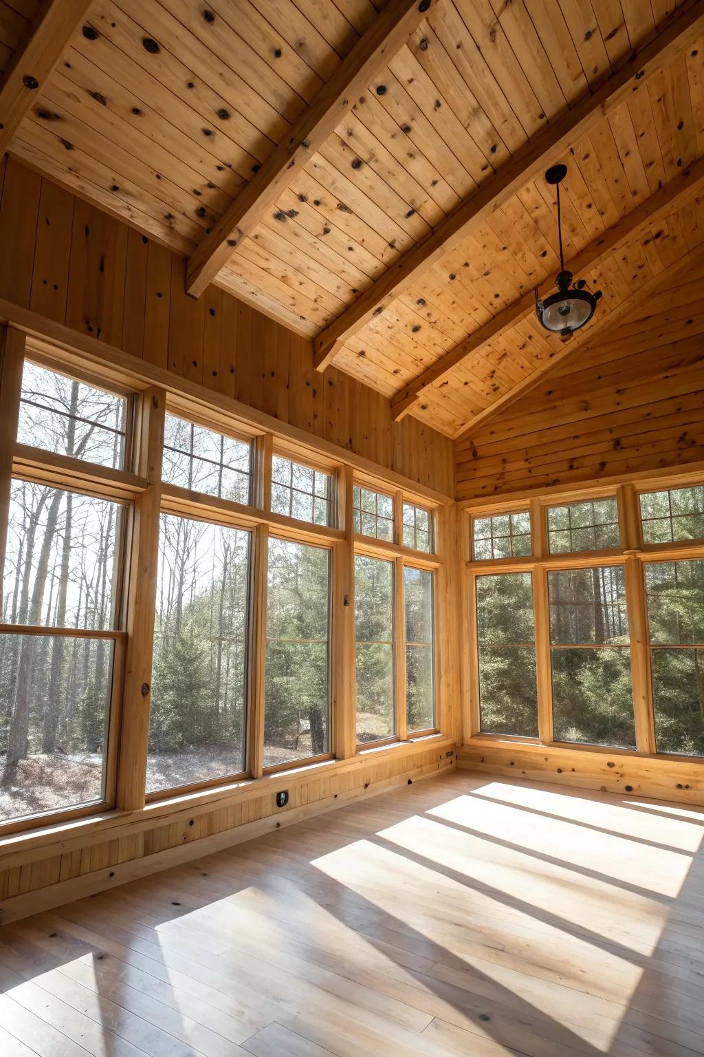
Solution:
<svg viewBox="0 0 704 1057"><path fill-rule="evenodd" d="M413 734L435 727L433 573L405 565L403 601L406 728Z"/></svg>

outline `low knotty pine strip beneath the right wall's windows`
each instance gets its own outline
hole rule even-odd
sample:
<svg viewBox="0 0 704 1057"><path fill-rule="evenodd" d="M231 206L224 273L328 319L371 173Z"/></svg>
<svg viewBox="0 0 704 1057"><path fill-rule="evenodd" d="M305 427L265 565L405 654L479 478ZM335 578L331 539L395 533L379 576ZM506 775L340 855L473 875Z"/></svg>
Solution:
<svg viewBox="0 0 704 1057"><path fill-rule="evenodd" d="M457 766L487 774L704 805L704 760L635 756L480 740L457 749Z"/></svg>

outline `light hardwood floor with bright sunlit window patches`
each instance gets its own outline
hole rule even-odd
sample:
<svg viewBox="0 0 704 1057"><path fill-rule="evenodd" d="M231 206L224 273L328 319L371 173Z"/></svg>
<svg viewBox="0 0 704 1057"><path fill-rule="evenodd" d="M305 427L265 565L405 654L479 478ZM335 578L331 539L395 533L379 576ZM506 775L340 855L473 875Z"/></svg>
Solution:
<svg viewBox="0 0 704 1057"><path fill-rule="evenodd" d="M704 810L455 772L0 929L3 1057L704 1053Z"/></svg>

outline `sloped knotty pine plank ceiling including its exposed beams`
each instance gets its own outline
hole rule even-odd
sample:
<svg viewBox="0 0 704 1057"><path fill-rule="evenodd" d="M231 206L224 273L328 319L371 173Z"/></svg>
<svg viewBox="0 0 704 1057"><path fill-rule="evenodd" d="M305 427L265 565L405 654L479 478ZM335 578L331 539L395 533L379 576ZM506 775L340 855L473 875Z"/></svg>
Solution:
<svg viewBox="0 0 704 1057"><path fill-rule="evenodd" d="M0 0L0 48L3 150L451 437L704 241L704 0Z"/></svg>

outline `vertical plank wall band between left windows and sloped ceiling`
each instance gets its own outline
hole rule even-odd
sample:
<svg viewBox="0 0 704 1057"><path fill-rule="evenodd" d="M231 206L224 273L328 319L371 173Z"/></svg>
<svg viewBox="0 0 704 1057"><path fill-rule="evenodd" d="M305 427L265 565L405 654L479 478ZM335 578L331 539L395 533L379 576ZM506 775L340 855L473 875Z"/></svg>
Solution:
<svg viewBox="0 0 704 1057"><path fill-rule="evenodd" d="M307 339L215 286L188 297L183 258L14 159L0 186L0 297L452 495L452 441L313 371Z"/></svg>

